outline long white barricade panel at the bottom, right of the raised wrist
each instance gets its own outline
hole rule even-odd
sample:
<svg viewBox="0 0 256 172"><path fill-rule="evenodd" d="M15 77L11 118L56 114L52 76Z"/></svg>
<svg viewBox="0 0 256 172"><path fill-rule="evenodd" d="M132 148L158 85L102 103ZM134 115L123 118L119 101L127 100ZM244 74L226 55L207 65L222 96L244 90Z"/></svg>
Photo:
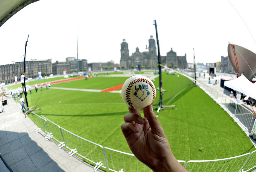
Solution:
<svg viewBox="0 0 256 172"><path fill-rule="evenodd" d="M188 171L232 171L240 172L246 164L250 153L239 155L231 158L214 159L214 160L201 160L201 161L188 161L185 168Z"/></svg>

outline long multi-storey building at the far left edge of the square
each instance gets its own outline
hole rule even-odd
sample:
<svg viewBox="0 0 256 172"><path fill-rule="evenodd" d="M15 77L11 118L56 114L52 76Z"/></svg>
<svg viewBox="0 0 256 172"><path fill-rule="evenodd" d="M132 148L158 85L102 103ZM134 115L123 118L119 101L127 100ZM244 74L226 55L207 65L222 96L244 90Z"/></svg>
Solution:
<svg viewBox="0 0 256 172"><path fill-rule="evenodd" d="M15 82L15 76L20 81L20 75L24 73L24 62L15 62L0 66L0 82L7 84ZM38 76L38 72L45 72L45 75L52 74L51 59L47 60L30 60L25 62L26 78Z"/></svg>

